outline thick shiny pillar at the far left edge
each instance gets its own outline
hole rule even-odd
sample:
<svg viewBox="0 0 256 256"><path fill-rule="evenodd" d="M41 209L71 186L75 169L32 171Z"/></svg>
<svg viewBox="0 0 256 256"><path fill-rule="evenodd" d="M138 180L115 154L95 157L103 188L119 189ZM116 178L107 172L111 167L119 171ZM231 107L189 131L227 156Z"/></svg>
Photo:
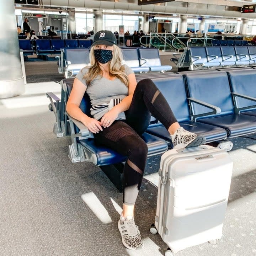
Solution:
<svg viewBox="0 0 256 256"><path fill-rule="evenodd" d="M13 1L0 1L0 16L8 21L0 37L0 98L8 98L25 92Z"/></svg>

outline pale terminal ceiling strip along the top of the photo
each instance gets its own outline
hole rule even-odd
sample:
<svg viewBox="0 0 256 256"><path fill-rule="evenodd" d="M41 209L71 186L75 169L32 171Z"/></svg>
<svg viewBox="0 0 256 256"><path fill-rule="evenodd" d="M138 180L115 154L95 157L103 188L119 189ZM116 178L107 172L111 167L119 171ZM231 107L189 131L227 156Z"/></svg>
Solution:
<svg viewBox="0 0 256 256"><path fill-rule="evenodd" d="M256 4L256 0L175 0L171 2L138 5L138 0L39 0L41 8L133 11L136 14L188 15L227 18L256 18L256 13L242 14L241 7ZM25 7L25 6L24 6ZM28 7L28 6L27 6ZM30 6L31 7L31 6Z"/></svg>

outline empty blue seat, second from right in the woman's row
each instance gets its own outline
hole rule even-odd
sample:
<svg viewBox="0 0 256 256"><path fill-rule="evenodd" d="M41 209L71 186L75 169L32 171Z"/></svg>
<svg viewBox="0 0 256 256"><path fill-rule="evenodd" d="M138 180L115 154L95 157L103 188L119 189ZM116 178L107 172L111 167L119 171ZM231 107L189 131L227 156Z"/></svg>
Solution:
<svg viewBox="0 0 256 256"><path fill-rule="evenodd" d="M225 129L228 138L256 132L256 117L235 113L226 72L186 74L184 78L188 96L193 99L190 100L192 115L197 122Z"/></svg>

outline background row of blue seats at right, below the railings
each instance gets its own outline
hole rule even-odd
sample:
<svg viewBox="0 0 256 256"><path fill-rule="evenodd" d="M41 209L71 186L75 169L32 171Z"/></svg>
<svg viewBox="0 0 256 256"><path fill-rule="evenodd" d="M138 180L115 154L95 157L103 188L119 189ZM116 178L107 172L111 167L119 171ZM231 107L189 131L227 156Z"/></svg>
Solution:
<svg viewBox="0 0 256 256"><path fill-rule="evenodd" d="M190 70L256 66L256 46L187 47L177 66Z"/></svg>

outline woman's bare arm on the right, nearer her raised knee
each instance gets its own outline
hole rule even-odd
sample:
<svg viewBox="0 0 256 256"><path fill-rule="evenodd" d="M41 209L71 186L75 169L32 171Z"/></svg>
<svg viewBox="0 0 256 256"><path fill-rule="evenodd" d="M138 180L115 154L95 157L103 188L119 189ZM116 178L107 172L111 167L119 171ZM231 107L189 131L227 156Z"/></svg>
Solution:
<svg viewBox="0 0 256 256"><path fill-rule="evenodd" d="M129 109L132 102L133 93L137 85L134 73L128 75L128 81L128 96L126 96L118 105L114 106L101 118L101 125L103 127L110 126L112 122L116 120L118 114Z"/></svg>

